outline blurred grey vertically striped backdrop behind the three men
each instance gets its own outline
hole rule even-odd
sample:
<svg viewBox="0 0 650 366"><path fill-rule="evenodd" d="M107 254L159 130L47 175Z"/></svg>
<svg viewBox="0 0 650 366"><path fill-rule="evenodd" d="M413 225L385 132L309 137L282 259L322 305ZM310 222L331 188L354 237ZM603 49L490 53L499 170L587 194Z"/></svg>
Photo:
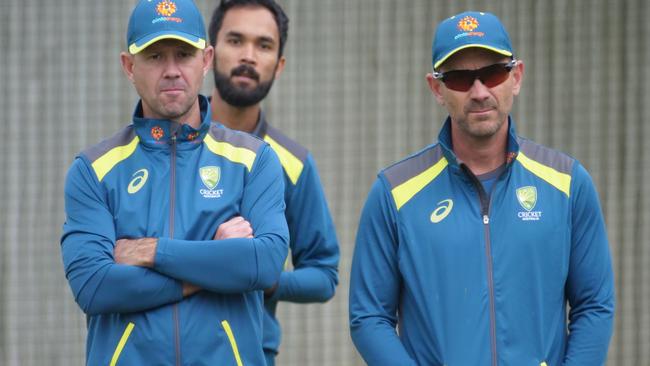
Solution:
<svg viewBox="0 0 650 366"><path fill-rule="evenodd" d="M335 298L281 304L279 365L363 364L347 325L359 213L381 167L436 141L432 33L470 9L497 14L525 62L519 134L579 159L600 193L617 286L608 365L650 365L650 2L279 1L287 66L264 108L312 151L341 243ZM59 250L63 181L77 152L129 123L137 96L118 54L134 3L2 0L0 365L84 364ZM207 23L216 1L197 4Z"/></svg>

